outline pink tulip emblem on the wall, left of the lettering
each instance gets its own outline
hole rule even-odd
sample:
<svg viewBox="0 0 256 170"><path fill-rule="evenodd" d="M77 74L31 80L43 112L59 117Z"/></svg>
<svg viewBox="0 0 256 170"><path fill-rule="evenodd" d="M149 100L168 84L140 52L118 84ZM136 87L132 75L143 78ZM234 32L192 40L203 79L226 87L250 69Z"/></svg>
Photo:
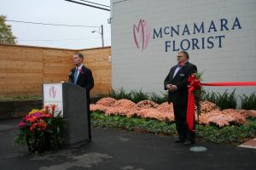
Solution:
<svg viewBox="0 0 256 170"><path fill-rule="evenodd" d="M136 47L140 50L144 50L148 46L150 39L150 26L146 20L139 20L138 25L133 25L133 41Z"/></svg>

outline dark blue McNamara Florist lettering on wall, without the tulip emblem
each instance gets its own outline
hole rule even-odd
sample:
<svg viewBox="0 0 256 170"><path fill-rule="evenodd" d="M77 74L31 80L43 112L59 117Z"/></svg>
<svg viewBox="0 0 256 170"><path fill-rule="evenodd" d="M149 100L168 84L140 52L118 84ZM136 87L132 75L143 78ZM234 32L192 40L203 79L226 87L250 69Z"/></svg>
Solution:
<svg viewBox="0 0 256 170"><path fill-rule="evenodd" d="M164 42L166 52L223 48L225 35L222 34L222 31L235 31L241 28L238 17L233 20L201 21L201 23L154 28L153 39L170 37L169 41ZM212 36L212 33L218 33L218 35ZM207 36L207 34L211 34L211 36ZM193 37L195 35L197 37ZM198 35L205 36L199 37Z"/></svg>

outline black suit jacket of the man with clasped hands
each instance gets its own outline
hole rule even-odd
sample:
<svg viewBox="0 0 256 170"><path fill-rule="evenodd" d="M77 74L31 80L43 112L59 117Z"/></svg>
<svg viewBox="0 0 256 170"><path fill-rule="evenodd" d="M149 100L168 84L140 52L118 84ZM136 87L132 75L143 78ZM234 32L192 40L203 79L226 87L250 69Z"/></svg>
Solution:
<svg viewBox="0 0 256 170"><path fill-rule="evenodd" d="M174 92L168 91L168 103L172 102L173 105L187 105L188 104L188 78L191 74L197 72L195 65L186 62L183 67L177 71L175 77L173 77L174 71L177 65L173 66L169 71L165 79L165 90L167 90L167 84L173 84L177 86L177 90ZM173 77L173 78L172 78Z"/></svg>

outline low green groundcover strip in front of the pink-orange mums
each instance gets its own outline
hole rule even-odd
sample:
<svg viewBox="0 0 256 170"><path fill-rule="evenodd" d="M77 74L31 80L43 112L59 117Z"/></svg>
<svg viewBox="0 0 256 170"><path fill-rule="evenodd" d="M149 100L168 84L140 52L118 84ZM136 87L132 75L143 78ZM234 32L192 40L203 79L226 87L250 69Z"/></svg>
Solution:
<svg viewBox="0 0 256 170"><path fill-rule="evenodd" d="M91 124L93 127L118 128L170 136L177 135L174 122L160 122L154 119L105 116L102 113L93 112L91 114ZM199 137L214 143L241 144L245 139L256 137L256 120L247 120L247 123L241 126L216 127L200 125L199 128Z"/></svg>

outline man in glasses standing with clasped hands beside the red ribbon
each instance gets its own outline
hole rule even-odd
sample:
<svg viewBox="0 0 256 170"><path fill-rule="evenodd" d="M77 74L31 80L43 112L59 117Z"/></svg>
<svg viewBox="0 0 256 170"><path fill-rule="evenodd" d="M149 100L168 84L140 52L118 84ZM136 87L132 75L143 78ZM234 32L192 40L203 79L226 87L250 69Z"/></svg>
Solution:
<svg viewBox="0 0 256 170"><path fill-rule="evenodd" d="M172 102L178 138L176 143L195 144L195 131L189 131L186 116L188 107L188 78L197 72L195 65L189 63L189 54L177 54L177 65L173 66L165 79L168 90L168 103Z"/></svg>

